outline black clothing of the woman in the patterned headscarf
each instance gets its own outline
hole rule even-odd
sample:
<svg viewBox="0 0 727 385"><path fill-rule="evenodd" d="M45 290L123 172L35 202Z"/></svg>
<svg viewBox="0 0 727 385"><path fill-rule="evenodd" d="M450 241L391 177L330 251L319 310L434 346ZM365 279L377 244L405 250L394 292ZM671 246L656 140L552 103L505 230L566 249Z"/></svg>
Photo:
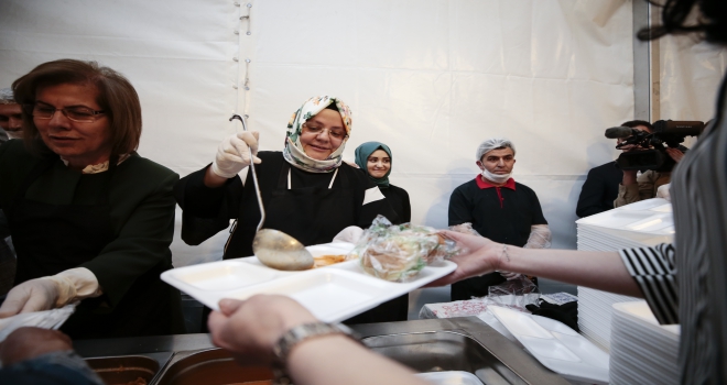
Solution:
<svg viewBox="0 0 727 385"><path fill-rule="evenodd" d="M347 191L351 195L350 205L337 207L335 210L323 210L312 216L302 215L305 207L297 206L289 210L284 217L275 216L272 212L274 207L271 207L274 205L270 202L280 194L287 191L285 188L280 188L281 177L282 180L285 179L285 173L281 170L284 168L291 170L291 191L317 191L310 195L307 204L311 206L329 200L325 197L325 193L329 190L328 184L332 180L333 173L317 174L307 173L295 167L291 168L281 152L261 151L258 153L258 157L262 163L254 167L267 211L267 229L281 230L304 245L312 245L330 242L340 230L348 226L368 228L377 215L382 215L392 222L399 220L388 199L379 199L364 205L367 194L378 189L378 187L364 173L346 163L338 167L338 174L332 190L344 190L344 185L347 185ZM230 219L238 219L238 229L232 231L228 240L224 258L252 255L252 239L260 220L258 199L252 187L252 174L248 173L245 186L242 180L236 176L220 188L208 188L204 185L206 170L205 167L192 173L182 178L175 186L174 193L180 207L183 209L182 240L187 244L197 245L217 232L227 229ZM345 223L340 218L346 218ZM285 221L291 228L280 229L271 224L274 221L279 223ZM321 222L326 224L315 224Z"/></svg>

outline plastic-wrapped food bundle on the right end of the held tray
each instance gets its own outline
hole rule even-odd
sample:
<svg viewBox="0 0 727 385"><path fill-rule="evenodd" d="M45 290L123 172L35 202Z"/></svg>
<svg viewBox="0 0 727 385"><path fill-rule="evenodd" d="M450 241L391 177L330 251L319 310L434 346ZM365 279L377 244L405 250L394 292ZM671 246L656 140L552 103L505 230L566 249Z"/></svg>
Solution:
<svg viewBox="0 0 727 385"><path fill-rule="evenodd" d="M433 228L411 223L391 224L377 217L364 232L352 256L358 256L365 272L376 277L406 282L427 264L457 253L454 243Z"/></svg>

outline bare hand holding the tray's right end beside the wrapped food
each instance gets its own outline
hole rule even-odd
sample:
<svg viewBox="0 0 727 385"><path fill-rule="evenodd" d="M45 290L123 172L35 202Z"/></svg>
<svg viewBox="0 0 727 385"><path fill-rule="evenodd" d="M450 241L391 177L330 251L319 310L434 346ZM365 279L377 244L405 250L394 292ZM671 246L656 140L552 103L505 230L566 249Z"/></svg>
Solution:
<svg viewBox="0 0 727 385"><path fill-rule="evenodd" d="M457 246L463 252L449 260L457 264L457 268L452 274L426 285L427 287L449 285L465 278L498 270L500 264L499 257L502 253L502 245L500 243L492 242L484 237L463 234L456 231L443 230L440 234L457 242Z"/></svg>

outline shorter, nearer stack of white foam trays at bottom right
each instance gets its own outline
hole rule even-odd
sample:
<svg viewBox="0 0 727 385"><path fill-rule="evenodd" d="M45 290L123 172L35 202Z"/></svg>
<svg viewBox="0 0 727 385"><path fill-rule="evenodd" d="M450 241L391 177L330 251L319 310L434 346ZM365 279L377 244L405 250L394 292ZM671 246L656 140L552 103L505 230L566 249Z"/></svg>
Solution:
<svg viewBox="0 0 727 385"><path fill-rule="evenodd" d="M614 305L611 384L679 384L677 324L660 326L645 301Z"/></svg>

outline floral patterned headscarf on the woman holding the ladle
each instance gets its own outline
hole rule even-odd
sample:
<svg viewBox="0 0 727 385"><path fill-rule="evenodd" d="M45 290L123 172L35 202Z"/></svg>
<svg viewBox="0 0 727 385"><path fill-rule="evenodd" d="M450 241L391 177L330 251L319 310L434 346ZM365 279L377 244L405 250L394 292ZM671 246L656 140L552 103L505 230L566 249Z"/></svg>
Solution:
<svg viewBox="0 0 727 385"><path fill-rule="evenodd" d="M334 105L335 103L335 105ZM326 107L334 105L340 113L340 118L344 120L344 125L346 127L346 138L340 143L340 146L336 148L328 158L325 161L317 161L305 154L303 145L301 144L301 130L303 123L308 119L318 114L318 112L326 109ZM346 141L351 133L351 110L348 106L340 99L330 96L317 96L308 99L301 108L293 113L291 121L287 122L287 135L285 138L285 147L283 148L283 157L285 161L297 167L300 169L310 172L310 173L330 173L340 166L343 162L344 148L346 147Z"/></svg>

